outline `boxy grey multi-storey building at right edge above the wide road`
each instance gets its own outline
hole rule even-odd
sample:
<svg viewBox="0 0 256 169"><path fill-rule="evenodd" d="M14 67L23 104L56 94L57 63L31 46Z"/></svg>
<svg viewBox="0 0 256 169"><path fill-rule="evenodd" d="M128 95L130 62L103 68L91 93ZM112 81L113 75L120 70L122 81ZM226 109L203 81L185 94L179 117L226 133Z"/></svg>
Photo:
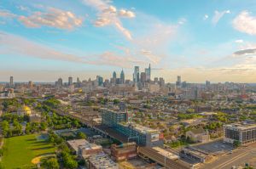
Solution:
<svg viewBox="0 0 256 169"><path fill-rule="evenodd" d="M224 125L224 142L241 145L256 142L256 124L235 123Z"/></svg>

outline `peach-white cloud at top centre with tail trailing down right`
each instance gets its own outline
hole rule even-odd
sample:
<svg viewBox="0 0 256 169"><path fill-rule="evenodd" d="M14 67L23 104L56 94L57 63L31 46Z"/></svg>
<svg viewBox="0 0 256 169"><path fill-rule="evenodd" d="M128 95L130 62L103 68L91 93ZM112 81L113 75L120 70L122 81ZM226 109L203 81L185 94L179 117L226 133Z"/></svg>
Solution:
<svg viewBox="0 0 256 169"><path fill-rule="evenodd" d="M120 9L117 12L117 8L110 5L108 1L102 0L83 0L85 5L95 8L97 11L97 19L95 21L96 26L113 25L119 30L127 39L131 40L131 32L127 30L122 24L119 17L133 18L135 14L131 11Z"/></svg>

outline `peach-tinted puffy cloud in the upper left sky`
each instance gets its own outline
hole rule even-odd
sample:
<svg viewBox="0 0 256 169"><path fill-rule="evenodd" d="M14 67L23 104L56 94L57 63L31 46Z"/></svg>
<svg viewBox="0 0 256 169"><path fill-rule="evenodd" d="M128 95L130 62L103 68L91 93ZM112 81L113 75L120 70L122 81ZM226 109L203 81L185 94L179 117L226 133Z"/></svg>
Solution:
<svg viewBox="0 0 256 169"><path fill-rule="evenodd" d="M59 29L72 30L82 25L82 18L70 11L49 8L47 12L35 12L30 16L20 15L18 19L26 27L41 27L43 25Z"/></svg>

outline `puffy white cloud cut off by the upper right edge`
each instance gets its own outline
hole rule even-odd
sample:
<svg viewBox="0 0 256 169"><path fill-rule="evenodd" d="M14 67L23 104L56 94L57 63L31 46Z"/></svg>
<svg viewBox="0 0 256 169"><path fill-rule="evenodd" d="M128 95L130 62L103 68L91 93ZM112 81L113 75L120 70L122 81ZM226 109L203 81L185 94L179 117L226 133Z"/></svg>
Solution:
<svg viewBox="0 0 256 169"><path fill-rule="evenodd" d="M247 11L242 11L233 20L233 26L238 31L256 35L256 16L250 15Z"/></svg>

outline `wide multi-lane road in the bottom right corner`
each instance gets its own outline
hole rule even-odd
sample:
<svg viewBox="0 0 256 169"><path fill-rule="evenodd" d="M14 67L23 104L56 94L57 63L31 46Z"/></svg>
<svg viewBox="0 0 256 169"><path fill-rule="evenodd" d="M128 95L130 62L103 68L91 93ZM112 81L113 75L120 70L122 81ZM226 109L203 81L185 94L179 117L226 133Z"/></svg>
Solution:
<svg viewBox="0 0 256 169"><path fill-rule="evenodd" d="M203 169L230 169L232 166L244 166L249 163L254 167L256 164L256 144L249 144L247 147L240 147L232 154L221 155L217 161L204 165ZM254 159L253 159L254 158ZM252 163L253 162L253 163Z"/></svg>

